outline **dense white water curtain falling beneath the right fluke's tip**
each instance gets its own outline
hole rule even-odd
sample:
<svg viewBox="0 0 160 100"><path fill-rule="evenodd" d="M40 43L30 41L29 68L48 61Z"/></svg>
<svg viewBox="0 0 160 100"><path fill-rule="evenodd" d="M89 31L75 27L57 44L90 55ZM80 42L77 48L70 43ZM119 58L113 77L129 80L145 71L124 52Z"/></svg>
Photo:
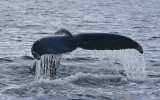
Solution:
<svg viewBox="0 0 160 100"><path fill-rule="evenodd" d="M128 77L134 79L146 77L146 66L143 54L140 54L137 51L133 51L131 53L129 50L127 50L126 53L124 53L124 57L123 55L121 56L121 63L123 64Z"/></svg>

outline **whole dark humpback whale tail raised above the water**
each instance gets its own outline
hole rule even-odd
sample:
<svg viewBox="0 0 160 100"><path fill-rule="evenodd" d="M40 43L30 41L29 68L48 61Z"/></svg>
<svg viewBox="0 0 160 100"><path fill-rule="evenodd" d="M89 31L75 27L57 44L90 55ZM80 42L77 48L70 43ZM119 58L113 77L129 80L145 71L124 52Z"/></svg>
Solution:
<svg viewBox="0 0 160 100"><path fill-rule="evenodd" d="M107 33L80 33L72 35L68 30L61 29L55 32L55 36L44 37L35 41L31 52L34 58L41 59L45 54L63 54L77 48L87 50L121 50L136 49L143 54L139 43L131 38ZM34 67L35 68L35 63Z"/></svg>

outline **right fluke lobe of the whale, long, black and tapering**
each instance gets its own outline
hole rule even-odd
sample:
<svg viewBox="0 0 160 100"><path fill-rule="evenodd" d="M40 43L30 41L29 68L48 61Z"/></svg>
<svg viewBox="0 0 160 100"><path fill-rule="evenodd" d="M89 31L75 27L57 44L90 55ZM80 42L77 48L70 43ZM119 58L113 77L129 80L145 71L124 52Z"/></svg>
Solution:
<svg viewBox="0 0 160 100"><path fill-rule="evenodd" d="M136 49L143 53L141 45L136 41L121 35L107 33L81 33L75 35L80 48L88 50L121 50Z"/></svg>

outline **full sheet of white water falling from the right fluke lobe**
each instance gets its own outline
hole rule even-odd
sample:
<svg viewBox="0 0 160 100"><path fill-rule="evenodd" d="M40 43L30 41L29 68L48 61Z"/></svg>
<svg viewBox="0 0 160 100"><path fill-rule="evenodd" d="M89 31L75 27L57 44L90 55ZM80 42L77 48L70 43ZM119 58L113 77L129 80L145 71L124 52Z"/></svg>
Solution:
<svg viewBox="0 0 160 100"><path fill-rule="evenodd" d="M118 50L118 51L105 51L100 54L100 57L108 57L109 64L116 68L116 61L119 61L124 67L124 71L127 77L133 79L146 78L146 66L143 54L140 54L137 50ZM102 63L105 63L106 59L100 59Z"/></svg>

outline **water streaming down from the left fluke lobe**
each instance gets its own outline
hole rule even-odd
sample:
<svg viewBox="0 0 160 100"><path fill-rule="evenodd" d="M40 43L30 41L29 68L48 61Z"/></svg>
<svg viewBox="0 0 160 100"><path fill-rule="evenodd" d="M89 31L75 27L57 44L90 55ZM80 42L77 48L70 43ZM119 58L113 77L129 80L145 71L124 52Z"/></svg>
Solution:
<svg viewBox="0 0 160 100"><path fill-rule="evenodd" d="M60 64L61 55L45 54L36 60L36 79L49 78L56 74Z"/></svg>

